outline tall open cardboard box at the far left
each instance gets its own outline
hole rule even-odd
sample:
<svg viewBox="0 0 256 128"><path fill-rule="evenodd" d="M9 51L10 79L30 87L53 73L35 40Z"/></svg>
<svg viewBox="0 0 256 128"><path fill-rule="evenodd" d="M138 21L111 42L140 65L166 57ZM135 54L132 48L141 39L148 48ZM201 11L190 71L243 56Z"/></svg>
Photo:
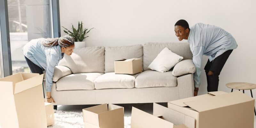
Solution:
<svg viewBox="0 0 256 128"><path fill-rule="evenodd" d="M1 128L46 128L43 74L17 73L0 79Z"/></svg>

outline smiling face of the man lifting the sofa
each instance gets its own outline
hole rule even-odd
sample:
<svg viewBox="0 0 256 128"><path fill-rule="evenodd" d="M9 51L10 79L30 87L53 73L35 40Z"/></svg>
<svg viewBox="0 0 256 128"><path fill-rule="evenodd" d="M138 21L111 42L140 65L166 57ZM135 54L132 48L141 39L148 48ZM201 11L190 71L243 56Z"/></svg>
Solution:
<svg viewBox="0 0 256 128"><path fill-rule="evenodd" d="M182 26L176 25L174 26L175 35L178 37L179 41L183 39L188 39L189 30L185 29Z"/></svg>

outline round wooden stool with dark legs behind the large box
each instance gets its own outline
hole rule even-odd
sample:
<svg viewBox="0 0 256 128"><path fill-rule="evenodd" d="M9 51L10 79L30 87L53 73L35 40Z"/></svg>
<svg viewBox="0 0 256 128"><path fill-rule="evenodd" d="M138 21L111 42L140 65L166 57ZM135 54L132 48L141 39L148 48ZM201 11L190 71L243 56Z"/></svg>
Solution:
<svg viewBox="0 0 256 128"><path fill-rule="evenodd" d="M239 91L243 90L243 93L244 93L244 90L250 90L251 95L252 95L252 89L256 88L256 84L244 83L244 82L228 83L228 84L226 84L226 86L228 88L232 89L231 92L233 92L233 89L238 89ZM253 96L252 96L252 98L253 98ZM256 116L255 107L254 107L254 114Z"/></svg>

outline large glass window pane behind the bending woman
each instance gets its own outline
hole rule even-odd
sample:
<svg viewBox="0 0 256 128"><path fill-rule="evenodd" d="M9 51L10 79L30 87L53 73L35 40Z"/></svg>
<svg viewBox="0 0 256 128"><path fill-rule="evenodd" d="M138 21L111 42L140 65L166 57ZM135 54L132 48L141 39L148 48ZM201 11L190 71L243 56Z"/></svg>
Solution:
<svg viewBox="0 0 256 128"><path fill-rule="evenodd" d="M30 72L22 47L32 39L52 38L50 0L7 0L12 73Z"/></svg>

